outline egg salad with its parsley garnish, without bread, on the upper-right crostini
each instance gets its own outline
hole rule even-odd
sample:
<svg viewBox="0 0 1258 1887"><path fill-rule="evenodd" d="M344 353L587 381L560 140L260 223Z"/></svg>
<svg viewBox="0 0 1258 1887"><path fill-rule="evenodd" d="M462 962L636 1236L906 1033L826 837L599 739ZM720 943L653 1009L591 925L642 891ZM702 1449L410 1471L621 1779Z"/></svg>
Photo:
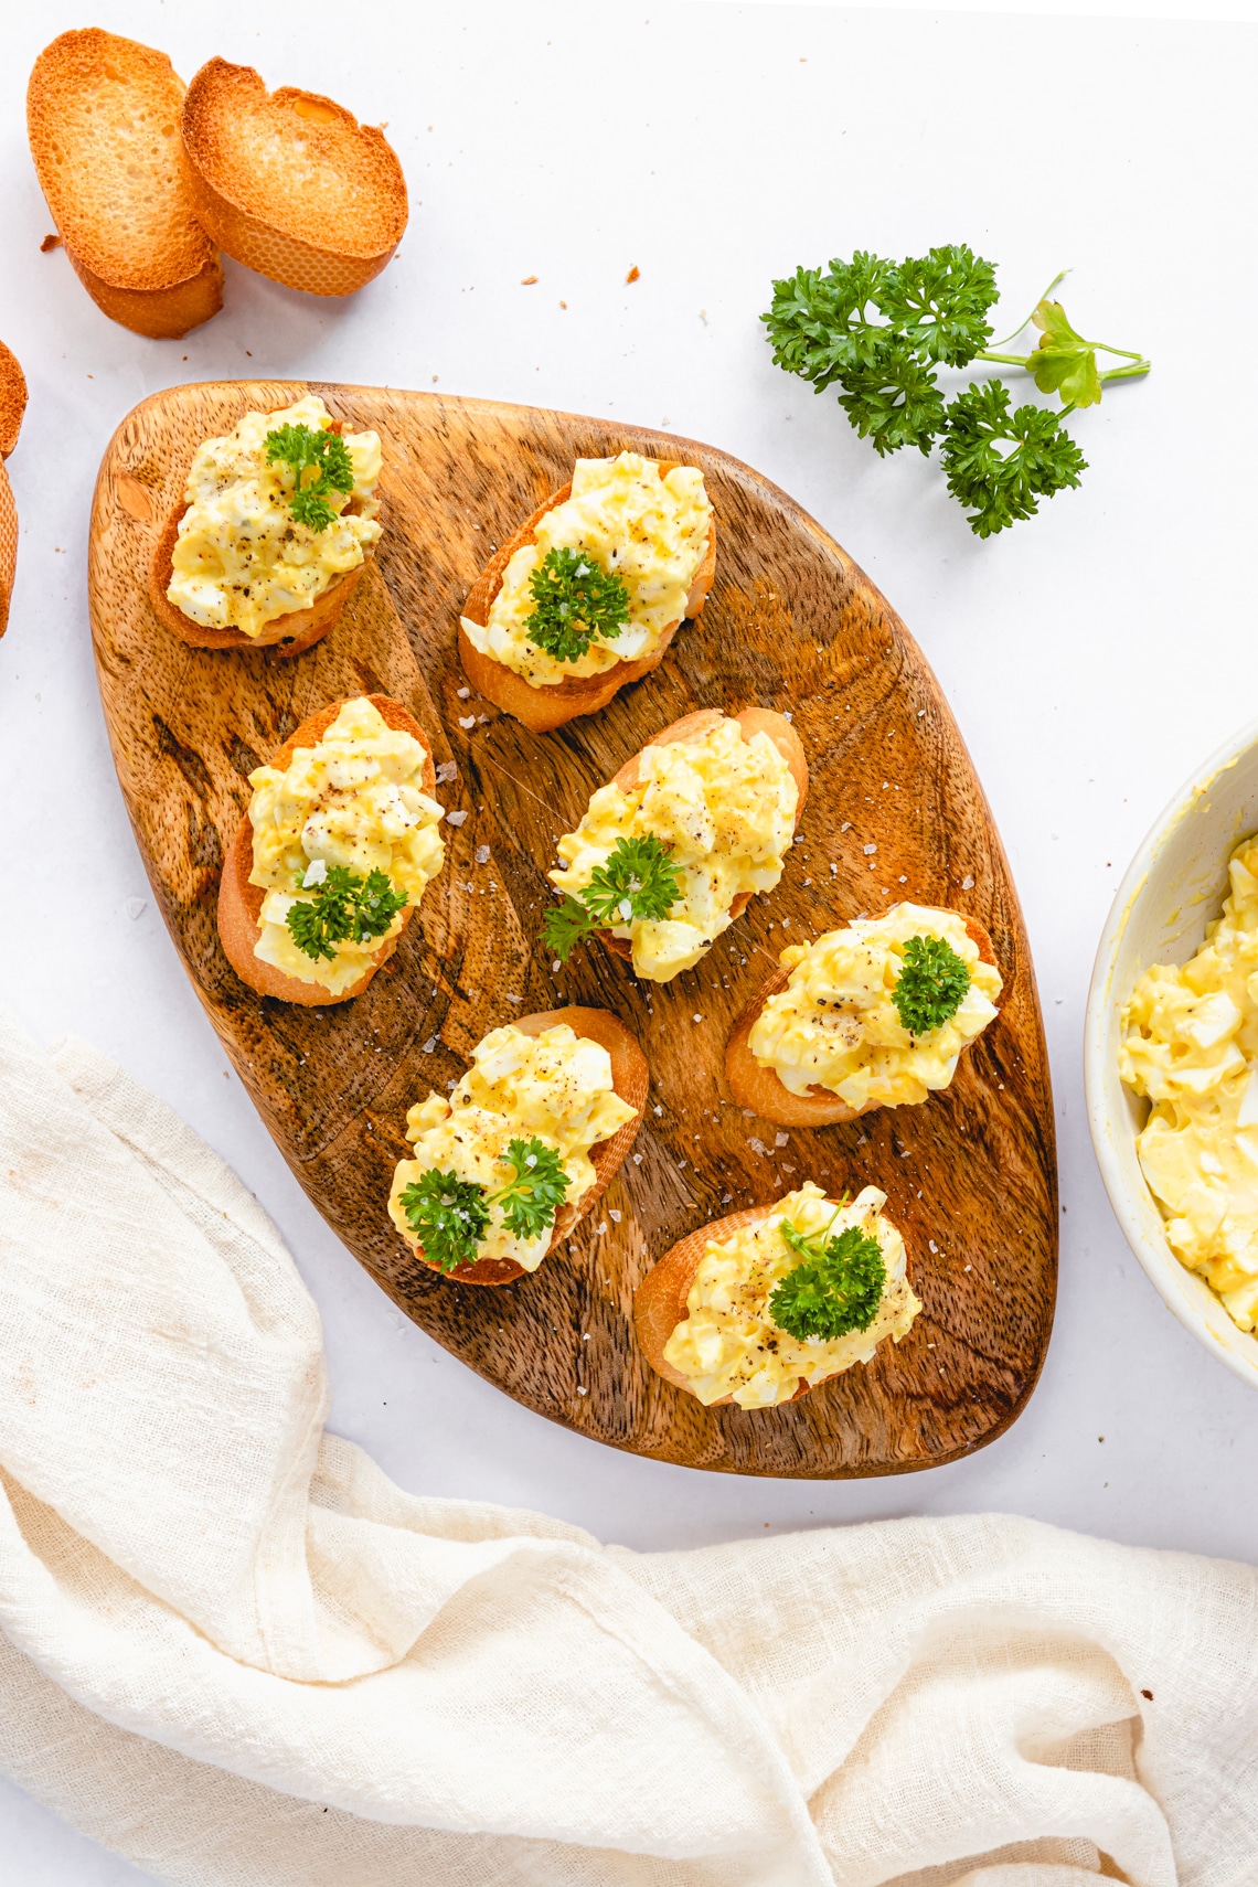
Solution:
<svg viewBox="0 0 1258 1887"><path fill-rule="evenodd" d="M526 536L485 621L462 617L473 649L534 689L637 662L685 619L707 557L703 474L628 451L577 459L568 496Z"/></svg>

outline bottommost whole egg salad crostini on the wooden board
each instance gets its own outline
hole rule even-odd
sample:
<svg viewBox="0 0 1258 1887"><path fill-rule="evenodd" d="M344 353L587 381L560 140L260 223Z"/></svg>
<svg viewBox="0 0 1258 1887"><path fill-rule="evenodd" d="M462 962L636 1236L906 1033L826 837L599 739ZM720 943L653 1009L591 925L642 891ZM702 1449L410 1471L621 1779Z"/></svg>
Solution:
<svg viewBox="0 0 1258 1887"><path fill-rule="evenodd" d="M873 1185L849 1202L809 1179L690 1232L634 1298L651 1368L705 1408L764 1410L898 1344L922 1306L885 1204Z"/></svg>

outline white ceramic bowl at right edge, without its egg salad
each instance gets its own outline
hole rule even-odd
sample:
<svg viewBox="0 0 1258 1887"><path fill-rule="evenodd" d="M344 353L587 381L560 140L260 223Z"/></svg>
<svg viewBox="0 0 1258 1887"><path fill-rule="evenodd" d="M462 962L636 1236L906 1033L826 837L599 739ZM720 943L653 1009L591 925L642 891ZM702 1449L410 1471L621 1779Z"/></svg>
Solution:
<svg viewBox="0 0 1258 1887"><path fill-rule="evenodd" d="M1088 991L1083 1072L1092 1145L1126 1242L1186 1330L1258 1389L1258 1338L1184 1270L1135 1157L1149 1102L1118 1079L1122 1008L1152 962L1186 962L1228 894L1228 855L1258 830L1258 723L1184 783L1135 853L1101 932Z"/></svg>

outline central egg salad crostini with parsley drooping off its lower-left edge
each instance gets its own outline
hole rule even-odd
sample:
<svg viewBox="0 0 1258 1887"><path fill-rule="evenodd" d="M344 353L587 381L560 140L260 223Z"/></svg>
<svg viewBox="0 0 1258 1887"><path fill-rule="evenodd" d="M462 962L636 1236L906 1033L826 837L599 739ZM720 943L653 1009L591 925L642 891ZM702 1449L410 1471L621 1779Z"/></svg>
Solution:
<svg viewBox="0 0 1258 1887"><path fill-rule="evenodd" d="M547 949L566 962L600 930L636 976L690 970L756 891L783 876L807 798L807 762L785 715L715 708L673 721L600 787L558 842Z"/></svg>

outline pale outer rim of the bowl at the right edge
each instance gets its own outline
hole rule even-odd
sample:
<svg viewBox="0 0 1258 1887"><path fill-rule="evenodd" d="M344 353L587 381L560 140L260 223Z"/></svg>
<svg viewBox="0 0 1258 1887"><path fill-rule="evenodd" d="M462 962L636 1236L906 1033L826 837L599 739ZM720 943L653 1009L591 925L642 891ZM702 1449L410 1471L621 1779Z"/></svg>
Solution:
<svg viewBox="0 0 1258 1887"><path fill-rule="evenodd" d="M1118 1161L1115 1127L1107 1104L1107 1081L1111 1074L1107 1055L1107 1023L1115 1008L1113 976L1118 949L1139 902L1141 891L1158 864L1160 853L1169 843L1184 815L1190 813L1198 800L1211 791L1218 776L1230 772L1230 768L1233 768L1254 747L1258 747L1258 721L1247 721L1243 728L1232 734L1230 740L1226 740L1192 770L1181 789L1167 800L1154 823L1149 827L1122 876L1113 904L1109 906L1109 915L1105 917L1105 927L1096 947L1096 960L1092 964L1092 981L1088 983L1088 1002L1083 1028L1083 1089L1088 1113L1088 1132L1092 1136L1092 1151L1101 1174L1101 1183L1109 1196L1115 1219L1118 1221L1118 1228L1139 1261L1145 1276L1175 1319L1184 1327L1184 1330L1196 1336L1196 1340L1209 1349L1213 1357L1232 1370L1233 1376L1237 1376L1243 1383L1249 1383L1250 1389L1258 1389L1258 1332L1250 1334L1241 1330L1239 1325L1232 1325L1232 1330L1241 1345L1233 1349L1209 1328L1201 1310L1194 1302L1190 1283L1196 1283L1203 1291L1209 1291L1209 1285L1205 1279L1198 1277L1196 1272L1190 1272L1179 1262L1166 1238L1154 1242L1147 1236L1143 1217L1137 1213L1135 1202L1132 1200L1128 1179ZM1152 1193L1149 1189L1145 1189L1145 1200L1154 1204L1156 1211L1156 1202L1152 1200ZM1222 1302L1218 1298L1215 1298L1215 1302L1218 1302L1220 1311L1226 1317L1228 1311Z"/></svg>

